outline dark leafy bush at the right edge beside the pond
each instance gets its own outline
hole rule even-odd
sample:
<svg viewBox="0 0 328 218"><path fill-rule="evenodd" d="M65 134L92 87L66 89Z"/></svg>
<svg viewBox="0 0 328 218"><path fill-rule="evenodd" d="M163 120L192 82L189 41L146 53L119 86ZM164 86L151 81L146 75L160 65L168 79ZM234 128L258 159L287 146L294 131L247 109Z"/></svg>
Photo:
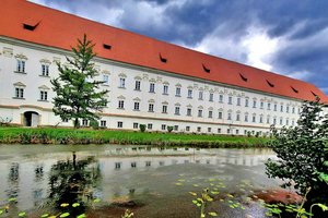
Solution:
<svg viewBox="0 0 328 218"><path fill-rule="evenodd" d="M323 174L328 172L328 114L323 114L319 101L305 102L297 126L273 128L272 149L278 160L266 162L267 174L280 178L283 186L293 186L300 194L308 190L308 205L328 203L328 184Z"/></svg>

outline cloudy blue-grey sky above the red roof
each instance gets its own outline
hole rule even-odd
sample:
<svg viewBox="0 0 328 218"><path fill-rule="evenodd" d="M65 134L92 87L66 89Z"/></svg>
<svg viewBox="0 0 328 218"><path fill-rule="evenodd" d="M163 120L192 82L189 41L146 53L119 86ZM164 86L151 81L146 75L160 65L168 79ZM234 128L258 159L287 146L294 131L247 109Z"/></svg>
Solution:
<svg viewBox="0 0 328 218"><path fill-rule="evenodd" d="M326 0L31 0L311 82L328 94Z"/></svg>

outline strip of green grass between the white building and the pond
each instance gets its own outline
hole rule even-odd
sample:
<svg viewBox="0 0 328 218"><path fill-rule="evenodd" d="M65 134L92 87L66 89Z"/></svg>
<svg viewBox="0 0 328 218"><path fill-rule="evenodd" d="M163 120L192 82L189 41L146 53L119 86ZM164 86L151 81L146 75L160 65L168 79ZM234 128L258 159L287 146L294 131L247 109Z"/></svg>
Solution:
<svg viewBox="0 0 328 218"><path fill-rule="evenodd" d="M263 147L263 137L128 132L90 129L0 128L2 144L133 144L197 147Z"/></svg>

